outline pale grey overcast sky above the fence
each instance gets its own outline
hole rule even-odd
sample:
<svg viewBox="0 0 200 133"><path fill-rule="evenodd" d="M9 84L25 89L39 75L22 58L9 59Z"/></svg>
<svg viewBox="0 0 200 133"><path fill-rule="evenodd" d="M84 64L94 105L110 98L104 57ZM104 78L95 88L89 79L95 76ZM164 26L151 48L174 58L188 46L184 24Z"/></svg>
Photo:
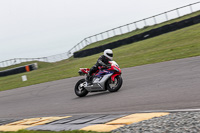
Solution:
<svg viewBox="0 0 200 133"><path fill-rule="evenodd" d="M0 61L67 52L84 38L199 0L0 0Z"/></svg>

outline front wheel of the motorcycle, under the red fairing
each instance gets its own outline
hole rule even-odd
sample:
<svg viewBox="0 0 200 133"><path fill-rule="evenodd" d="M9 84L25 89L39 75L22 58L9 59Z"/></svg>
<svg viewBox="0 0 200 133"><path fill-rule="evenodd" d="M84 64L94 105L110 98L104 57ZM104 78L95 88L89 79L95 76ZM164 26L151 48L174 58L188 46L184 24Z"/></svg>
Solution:
<svg viewBox="0 0 200 133"><path fill-rule="evenodd" d="M111 78L106 82L106 88L109 92L116 92L121 88L122 83L123 83L122 77L118 75L115 77L114 82L112 81Z"/></svg>

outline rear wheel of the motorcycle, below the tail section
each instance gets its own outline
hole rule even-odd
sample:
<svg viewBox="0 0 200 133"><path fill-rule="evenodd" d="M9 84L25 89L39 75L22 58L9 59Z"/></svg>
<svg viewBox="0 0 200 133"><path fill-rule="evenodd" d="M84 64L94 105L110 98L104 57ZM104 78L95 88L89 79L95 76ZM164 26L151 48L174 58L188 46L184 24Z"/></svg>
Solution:
<svg viewBox="0 0 200 133"><path fill-rule="evenodd" d="M88 94L88 91L83 86L84 82L85 79L81 79L75 85L74 92L79 97L84 97Z"/></svg>

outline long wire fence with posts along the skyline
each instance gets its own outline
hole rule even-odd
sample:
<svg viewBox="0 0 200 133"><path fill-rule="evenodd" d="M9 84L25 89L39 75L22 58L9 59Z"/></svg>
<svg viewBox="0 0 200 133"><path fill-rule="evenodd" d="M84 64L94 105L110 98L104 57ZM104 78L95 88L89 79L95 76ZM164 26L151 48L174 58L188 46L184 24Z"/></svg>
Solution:
<svg viewBox="0 0 200 133"><path fill-rule="evenodd" d="M79 42L77 45L75 45L72 49L70 49L68 52L52 55L48 57L41 57L41 58L14 58L6 61L0 62L0 67L7 67L15 64L19 64L22 62L28 62L28 61L43 61L43 62L58 62L64 59L68 59L71 56L73 56L73 53L76 51L79 51L80 49L86 47L87 45L90 45L92 43L105 40L117 35L122 35L125 33L132 32L137 29L142 29L146 26L153 26L156 24L160 24L172 19L176 19L179 17L182 17L187 14L191 14L193 12L200 10L200 1L196 3L192 3L183 7L179 7L161 14L157 14L148 18L144 18L139 21L135 21L126 25L122 25L101 33L98 33L93 36L89 36L85 39L83 39L81 42Z"/></svg>

